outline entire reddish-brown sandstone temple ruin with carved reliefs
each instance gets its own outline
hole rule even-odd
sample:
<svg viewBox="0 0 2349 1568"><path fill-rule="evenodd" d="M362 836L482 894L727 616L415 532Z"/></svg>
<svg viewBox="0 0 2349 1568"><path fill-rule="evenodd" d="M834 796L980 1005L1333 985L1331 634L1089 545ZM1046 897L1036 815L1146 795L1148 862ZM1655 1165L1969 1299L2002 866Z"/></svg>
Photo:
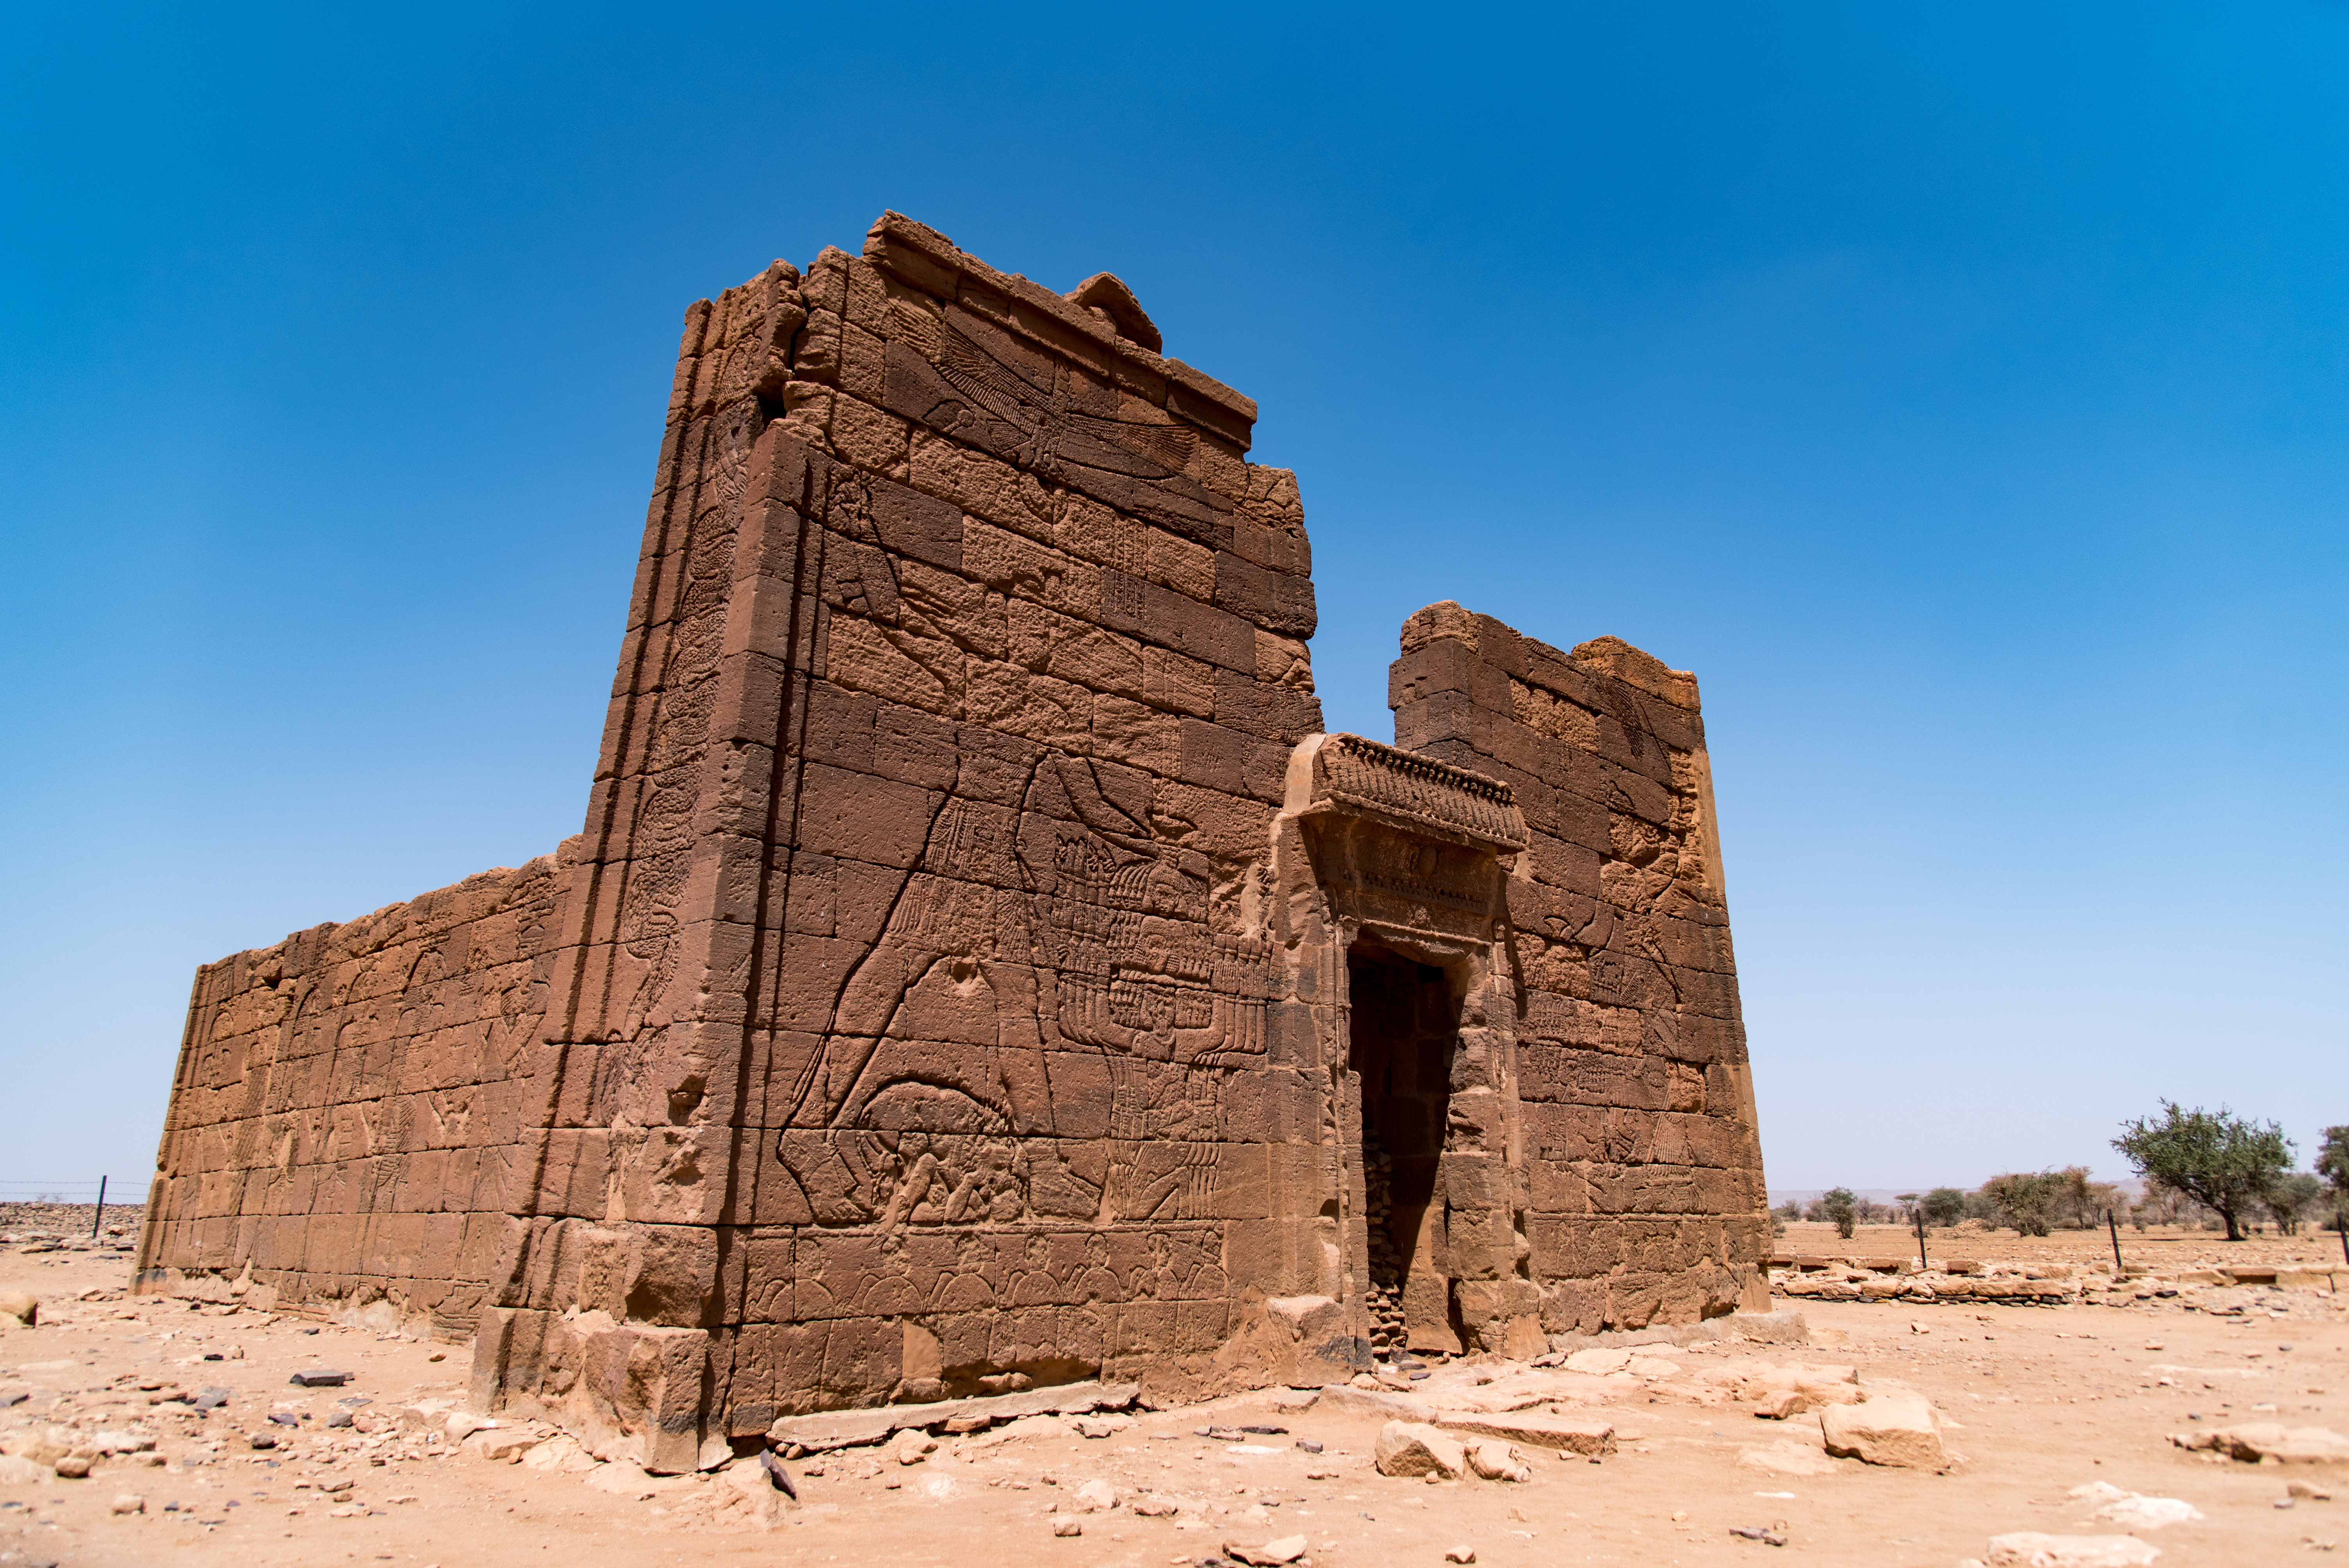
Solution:
<svg viewBox="0 0 2349 1568"><path fill-rule="evenodd" d="M1696 681L1438 603L1325 735L1254 413L895 214L693 305L585 829L197 972L141 1289L667 1469L1766 1310Z"/></svg>

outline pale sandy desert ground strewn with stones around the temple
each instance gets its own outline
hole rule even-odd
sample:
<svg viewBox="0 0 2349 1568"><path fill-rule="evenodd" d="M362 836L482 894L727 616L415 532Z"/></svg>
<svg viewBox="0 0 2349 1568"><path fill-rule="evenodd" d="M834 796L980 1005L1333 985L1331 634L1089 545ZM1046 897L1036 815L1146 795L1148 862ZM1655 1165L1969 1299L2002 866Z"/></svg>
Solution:
<svg viewBox="0 0 2349 1568"><path fill-rule="evenodd" d="M1792 1225L1783 1239L1788 1253L1816 1256L1889 1258L1903 1244L1912 1237L1891 1228L1839 1242ZM1031 1418L940 1434L916 1462L869 1446L808 1453L785 1462L799 1488L789 1502L754 1458L714 1476L646 1476L566 1439L538 1441L543 1427L451 1441L451 1418L453 1432L470 1425L463 1345L237 1303L132 1298L124 1251L19 1242L0 1246L0 1291L38 1296L40 1312L31 1329L0 1317L0 1448L56 1453L70 1439L85 1453L132 1451L96 1458L80 1479L42 1467L40 1479L0 1481L0 1563L1123 1568L1236 1561L1226 1549L1285 1542L1318 1568L1442 1568L1447 1552L1494 1568L1952 1568L1987 1559L1990 1540L2013 1530L2135 1535L2168 1568L2349 1561L2328 1556L2349 1542L2349 1462L2257 1465L2170 1441L2232 1422L2349 1427L2349 1265L2337 1239L2229 1246L2208 1232L2123 1230L2121 1244L2145 1253L2128 1261L2152 1268L2149 1279L2208 1263L2344 1272L2340 1293L2189 1284L2138 1300L2131 1286L2147 1279L2105 1293L2131 1305L1783 1298L1804 1314L1806 1343L1640 1347L1633 1340L1651 1336L1616 1336L1602 1345L1614 1354L1567 1366L1431 1359L1419 1378L1391 1378L1435 1408L1482 1404L1508 1420L1522 1406L1517 1415L1614 1425L1614 1451L1600 1458L1517 1444L1522 1483L1381 1476L1372 1453L1384 1422L1409 1413L1393 1406L1405 1394L1355 1390ZM2100 1235L1936 1237L1933 1251L2112 1272ZM1788 1387L1790 1366L1809 1368L1816 1387L1849 1378L1877 1397L1893 1385L1921 1392L1940 1413L1947 1469L1828 1458L1818 1411L1757 1418L1752 1394L1771 1373ZM350 1383L291 1383L317 1368L348 1371ZM226 1401L195 1411L174 1399L197 1390L226 1390ZM153 1448L139 1448L148 1439ZM19 1476L31 1460L16 1465L0 1460ZM2100 1521L2100 1500L2069 1495L2093 1483L2175 1498L2199 1519L2133 1530Z"/></svg>

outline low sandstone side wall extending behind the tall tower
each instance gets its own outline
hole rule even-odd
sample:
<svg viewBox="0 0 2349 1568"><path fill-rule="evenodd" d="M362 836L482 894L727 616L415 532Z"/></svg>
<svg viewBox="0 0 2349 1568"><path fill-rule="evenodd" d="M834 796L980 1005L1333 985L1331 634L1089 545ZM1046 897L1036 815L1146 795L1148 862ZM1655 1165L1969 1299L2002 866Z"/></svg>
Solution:
<svg viewBox="0 0 2349 1568"><path fill-rule="evenodd" d="M512 1270L552 857L195 974L139 1265L470 1333Z"/></svg>

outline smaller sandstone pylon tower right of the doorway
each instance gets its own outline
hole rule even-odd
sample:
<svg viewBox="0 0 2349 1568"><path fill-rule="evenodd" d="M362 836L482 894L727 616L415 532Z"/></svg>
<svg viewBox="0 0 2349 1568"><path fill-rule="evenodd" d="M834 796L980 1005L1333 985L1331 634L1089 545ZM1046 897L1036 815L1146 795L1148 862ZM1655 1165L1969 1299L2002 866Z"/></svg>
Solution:
<svg viewBox="0 0 2349 1568"><path fill-rule="evenodd" d="M1506 782L1527 1239L1553 1331L1766 1310L1769 1202L1696 678L1456 603L1402 629L1395 744Z"/></svg>

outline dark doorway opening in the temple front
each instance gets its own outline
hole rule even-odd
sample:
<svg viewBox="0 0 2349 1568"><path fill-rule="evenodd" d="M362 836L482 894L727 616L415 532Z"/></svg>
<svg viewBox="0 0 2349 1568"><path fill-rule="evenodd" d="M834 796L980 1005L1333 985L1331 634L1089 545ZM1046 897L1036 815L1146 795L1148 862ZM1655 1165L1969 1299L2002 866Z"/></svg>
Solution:
<svg viewBox="0 0 2349 1568"><path fill-rule="evenodd" d="M1459 1352L1442 1155L1459 1002L1452 976L1358 939L1346 951L1360 1094L1372 1347Z"/></svg>

